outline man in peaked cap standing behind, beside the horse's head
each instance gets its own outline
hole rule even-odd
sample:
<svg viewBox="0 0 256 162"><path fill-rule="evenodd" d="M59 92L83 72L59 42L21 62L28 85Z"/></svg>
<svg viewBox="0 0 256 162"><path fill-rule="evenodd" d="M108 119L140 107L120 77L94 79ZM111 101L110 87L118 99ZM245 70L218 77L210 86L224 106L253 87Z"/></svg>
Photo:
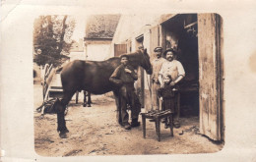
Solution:
<svg viewBox="0 0 256 162"><path fill-rule="evenodd" d="M160 88L159 73L160 67L165 59L161 57L161 47L156 47L154 52L156 59L152 62L152 108L153 110L160 110L160 100L158 98L158 89Z"/></svg>

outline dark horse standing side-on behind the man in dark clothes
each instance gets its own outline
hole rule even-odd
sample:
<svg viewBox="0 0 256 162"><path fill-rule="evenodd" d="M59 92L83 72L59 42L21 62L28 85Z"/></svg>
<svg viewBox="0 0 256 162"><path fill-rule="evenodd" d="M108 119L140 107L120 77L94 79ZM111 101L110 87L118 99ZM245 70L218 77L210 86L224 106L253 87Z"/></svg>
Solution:
<svg viewBox="0 0 256 162"><path fill-rule="evenodd" d="M136 52L128 53L128 55L130 65L134 69L138 69L141 66L146 70L147 74L152 74L153 70L147 49L139 49ZM119 110L119 87L110 82L109 78L120 64L119 57L112 57L100 62L74 60L63 67L61 71L63 97L61 100L57 98L53 104L57 113L57 132L61 138L66 138L66 133L69 132L66 127L64 112L77 90L86 90L93 94L113 91L117 110Z"/></svg>

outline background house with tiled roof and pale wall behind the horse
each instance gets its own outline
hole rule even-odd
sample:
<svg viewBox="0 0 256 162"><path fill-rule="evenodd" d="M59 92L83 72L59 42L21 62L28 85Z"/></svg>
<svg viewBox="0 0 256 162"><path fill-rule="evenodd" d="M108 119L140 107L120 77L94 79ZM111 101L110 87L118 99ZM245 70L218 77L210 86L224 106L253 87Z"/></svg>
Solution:
<svg viewBox="0 0 256 162"><path fill-rule="evenodd" d="M87 60L107 58L119 19L120 15L92 15L88 18L84 37Z"/></svg>

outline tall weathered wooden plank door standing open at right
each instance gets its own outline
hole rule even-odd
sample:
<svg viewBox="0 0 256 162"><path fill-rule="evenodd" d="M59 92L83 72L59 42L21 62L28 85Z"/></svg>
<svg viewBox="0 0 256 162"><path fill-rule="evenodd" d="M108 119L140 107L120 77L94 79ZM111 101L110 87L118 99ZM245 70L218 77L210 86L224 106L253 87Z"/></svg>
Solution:
<svg viewBox="0 0 256 162"><path fill-rule="evenodd" d="M222 19L198 14L200 133L223 137Z"/></svg>

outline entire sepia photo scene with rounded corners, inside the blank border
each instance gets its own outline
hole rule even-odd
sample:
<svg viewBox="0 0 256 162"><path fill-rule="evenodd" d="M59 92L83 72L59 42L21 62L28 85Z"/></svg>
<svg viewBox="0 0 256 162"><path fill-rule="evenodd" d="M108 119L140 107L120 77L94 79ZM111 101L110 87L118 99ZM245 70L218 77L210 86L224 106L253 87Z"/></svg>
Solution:
<svg viewBox="0 0 256 162"><path fill-rule="evenodd" d="M32 35L38 155L224 147L221 15L41 15Z"/></svg>

